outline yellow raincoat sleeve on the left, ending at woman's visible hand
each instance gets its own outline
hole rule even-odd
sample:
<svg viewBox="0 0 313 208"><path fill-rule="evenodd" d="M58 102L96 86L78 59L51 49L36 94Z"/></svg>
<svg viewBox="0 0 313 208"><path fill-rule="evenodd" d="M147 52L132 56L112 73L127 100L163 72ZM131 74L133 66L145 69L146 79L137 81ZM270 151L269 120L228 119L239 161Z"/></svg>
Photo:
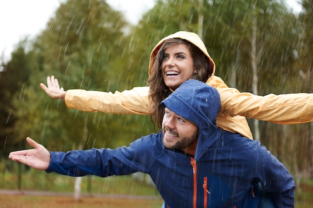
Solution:
<svg viewBox="0 0 313 208"><path fill-rule="evenodd" d="M80 111L113 114L148 114L149 87L134 87L122 92L67 90L65 104Z"/></svg>

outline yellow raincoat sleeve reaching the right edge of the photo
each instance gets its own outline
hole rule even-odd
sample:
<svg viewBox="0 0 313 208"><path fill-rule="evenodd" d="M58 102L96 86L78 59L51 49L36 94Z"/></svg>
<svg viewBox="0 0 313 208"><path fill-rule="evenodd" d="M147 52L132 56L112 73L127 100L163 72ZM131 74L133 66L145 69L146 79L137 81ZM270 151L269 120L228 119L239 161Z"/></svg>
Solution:
<svg viewBox="0 0 313 208"><path fill-rule="evenodd" d="M313 121L313 94L269 94L266 96L240 93L229 88L216 76L207 84L215 87L221 99L223 117L243 116L276 124L299 124Z"/></svg>

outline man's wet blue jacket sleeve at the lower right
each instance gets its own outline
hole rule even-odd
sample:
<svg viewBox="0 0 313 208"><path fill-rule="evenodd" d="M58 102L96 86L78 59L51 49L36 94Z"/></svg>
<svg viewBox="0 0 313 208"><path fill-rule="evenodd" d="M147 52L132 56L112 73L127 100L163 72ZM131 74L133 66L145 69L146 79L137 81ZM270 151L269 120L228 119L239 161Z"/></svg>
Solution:
<svg viewBox="0 0 313 208"><path fill-rule="evenodd" d="M247 140L229 132L224 133L224 138L221 141L227 141L226 148L229 149L224 149L223 154L236 164L247 184L259 182L263 190L269 193L275 208L294 208L295 183L286 167L259 141ZM254 191L258 193L257 189Z"/></svg>

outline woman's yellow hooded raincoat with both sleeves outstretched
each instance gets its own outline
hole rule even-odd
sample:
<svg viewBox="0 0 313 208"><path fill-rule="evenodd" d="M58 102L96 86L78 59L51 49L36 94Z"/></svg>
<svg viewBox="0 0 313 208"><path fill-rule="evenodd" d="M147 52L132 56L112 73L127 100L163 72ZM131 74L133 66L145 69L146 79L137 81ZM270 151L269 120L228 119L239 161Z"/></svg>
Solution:
<svg viewBox="0 0 313 208"><path fill-rule="evenodd" d="M186 39L199 47L213 66L212 76L209 77L206 83L216 88L220 94L221 109L217 116L217 126L221 129L239 133L252 139L245 118L277 124L297 124L313 121L313 94L257 96L251 93L240 93L235 88L229 88L219 77L214 76L215 64L204 43L192 32L179 31L160 40L151 52L149 70L153 64L153 57L161 44L166 39L175 37ZM135 87L131 90L115 93L67 90L65 103L68 108L81 111L148 115L148 91L149 87Z"/></svg>

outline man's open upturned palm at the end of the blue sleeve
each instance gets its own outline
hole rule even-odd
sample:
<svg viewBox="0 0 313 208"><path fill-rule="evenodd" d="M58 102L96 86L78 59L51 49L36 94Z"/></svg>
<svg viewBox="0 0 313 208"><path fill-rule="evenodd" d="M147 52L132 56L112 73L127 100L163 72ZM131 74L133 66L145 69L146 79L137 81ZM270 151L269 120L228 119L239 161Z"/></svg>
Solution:
<svg viewBox="0 0 313 208"><path fill-rule="evenodd" d="M51 161L49 151L29 137L26 138L26 141L35 149L11 152L8 158L33 169L45 171Z"/></svg>

